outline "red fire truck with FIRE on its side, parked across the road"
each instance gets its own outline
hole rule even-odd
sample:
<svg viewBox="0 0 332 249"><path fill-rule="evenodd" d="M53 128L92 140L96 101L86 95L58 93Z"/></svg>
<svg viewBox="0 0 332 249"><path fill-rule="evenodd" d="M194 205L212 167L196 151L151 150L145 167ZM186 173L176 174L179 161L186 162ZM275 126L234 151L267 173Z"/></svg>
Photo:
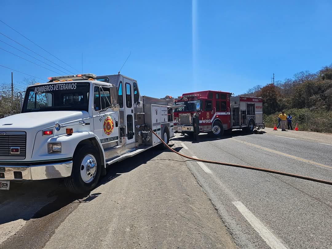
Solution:
<svg viewBox="0 0 332 249"><path fill-rule="evenodd" d="M221 136L224 131L253 131L263 124L263 100L231 97L231 93L202 91L185 93L174 103L174 131L193 134L192 116L200 109L200 131Z"/></svg>

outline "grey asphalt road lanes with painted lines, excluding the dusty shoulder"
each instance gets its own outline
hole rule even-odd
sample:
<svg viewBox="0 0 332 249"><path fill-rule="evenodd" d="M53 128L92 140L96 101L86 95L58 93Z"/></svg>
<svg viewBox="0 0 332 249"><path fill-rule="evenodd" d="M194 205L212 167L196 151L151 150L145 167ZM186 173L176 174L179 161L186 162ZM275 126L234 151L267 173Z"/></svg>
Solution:
<svg viewBox="0 0 332 249"><path fill-rule="evenodd" d="M332 181L331 135L315 141L315 133L266 131L235 130L221 139L200 134L199 143L177 133L172 143L202 159ZM215 164L187 165L238 247L332 248L332 186Z"/></svg>

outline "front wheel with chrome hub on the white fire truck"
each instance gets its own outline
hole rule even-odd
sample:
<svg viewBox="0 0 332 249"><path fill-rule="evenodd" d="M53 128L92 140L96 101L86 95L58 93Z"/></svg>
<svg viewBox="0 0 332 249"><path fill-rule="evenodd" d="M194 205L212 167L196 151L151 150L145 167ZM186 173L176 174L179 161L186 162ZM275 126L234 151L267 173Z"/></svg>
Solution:
<svg viewBox="0 0 332 249"><path fill-rule="evenodd" d="M64 183L74 194L90 192L99 182L101 167L99 153L93 146L80 147L73 156L71 176L65 178Z"/></svg>

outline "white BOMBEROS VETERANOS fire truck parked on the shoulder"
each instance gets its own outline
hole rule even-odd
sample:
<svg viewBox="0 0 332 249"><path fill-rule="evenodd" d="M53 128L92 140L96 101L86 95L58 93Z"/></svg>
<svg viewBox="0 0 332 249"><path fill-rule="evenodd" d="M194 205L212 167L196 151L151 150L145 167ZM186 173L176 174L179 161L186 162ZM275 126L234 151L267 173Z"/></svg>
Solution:
<svg viewBox="0 0 332 249"><path fill-rule="evenodd" d="M140 95L121 74L49 77L29 86L21 113L0 120L0 189L10 181L64 178L95 188L106 167L174 136L166 100Z"/></svg>

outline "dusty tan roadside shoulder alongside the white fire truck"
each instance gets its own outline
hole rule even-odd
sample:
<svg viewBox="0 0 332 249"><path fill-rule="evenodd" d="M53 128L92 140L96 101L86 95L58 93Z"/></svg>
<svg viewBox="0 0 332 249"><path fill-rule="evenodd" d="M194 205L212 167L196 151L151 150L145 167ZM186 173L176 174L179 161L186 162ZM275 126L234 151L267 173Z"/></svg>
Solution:
<svg viewBox="0 0 332 249"><path fill-rule="evenodd" d="M61 183L51 192L39 183L25 185L34 190L23 199L15 189L0 193L21 205L21 213L23 207L34 209L17 215L12 205L0 208L9 214L0 219L0 231L10 226L16 231L0 248L235 248L184 160L172 152L149 150L114 164L84 197L68 196ZM36 189L44 205L33 204ZM24 223L16 225L20 218Z"/></svg>

